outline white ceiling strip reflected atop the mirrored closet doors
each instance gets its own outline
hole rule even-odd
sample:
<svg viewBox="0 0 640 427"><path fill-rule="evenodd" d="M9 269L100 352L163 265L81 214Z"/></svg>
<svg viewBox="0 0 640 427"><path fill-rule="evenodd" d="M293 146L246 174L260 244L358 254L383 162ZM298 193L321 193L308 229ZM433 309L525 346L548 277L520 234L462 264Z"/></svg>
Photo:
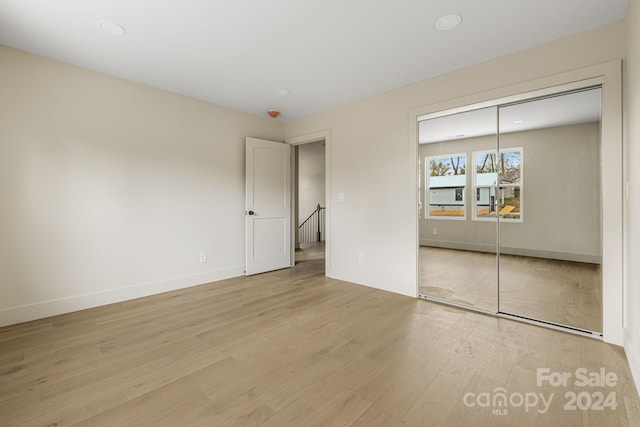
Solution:
<svg viewBox="0 0 640 427"><path fill-rule="evenodd" d="M423 120L418 138L426 144L495 135L498 127L500 133L509 133L596 122L601 111L602 89L590 89Z"/></svg>

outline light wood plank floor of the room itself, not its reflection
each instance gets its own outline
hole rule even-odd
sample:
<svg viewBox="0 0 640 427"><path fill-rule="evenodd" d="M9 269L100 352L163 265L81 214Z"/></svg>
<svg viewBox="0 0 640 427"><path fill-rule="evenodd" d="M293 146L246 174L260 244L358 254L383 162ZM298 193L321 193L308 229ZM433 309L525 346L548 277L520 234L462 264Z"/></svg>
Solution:
<svg viewBox="0 0 640 427"><path fill-rule="evenodd" d="M640 425L619 347L332 280L322 258L298 259L1 328L0 425ZM536 384L537 368L579 367L616 385ZM465 405L497 387L555 397L546 413ZM569 391L613 392L618 406L565 411Z"/></svg>

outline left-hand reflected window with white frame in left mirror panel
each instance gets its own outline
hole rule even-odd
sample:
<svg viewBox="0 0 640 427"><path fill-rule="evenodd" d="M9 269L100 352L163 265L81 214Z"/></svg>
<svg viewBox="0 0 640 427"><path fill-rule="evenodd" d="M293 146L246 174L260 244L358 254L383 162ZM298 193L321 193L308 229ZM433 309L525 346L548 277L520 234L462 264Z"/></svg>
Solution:
<svg viewBox="0 0 640 427"><path fill-rule="evenodd" d="M466 161L459 153L425 158L425 217L466 218Z"/></svg>

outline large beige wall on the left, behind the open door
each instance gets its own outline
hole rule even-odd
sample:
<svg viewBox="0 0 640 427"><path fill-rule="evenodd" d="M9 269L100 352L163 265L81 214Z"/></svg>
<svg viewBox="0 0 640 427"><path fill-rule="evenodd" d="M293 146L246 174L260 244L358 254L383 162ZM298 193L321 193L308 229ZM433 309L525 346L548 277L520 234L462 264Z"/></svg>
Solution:
<svg viewBox="0 0 640 427"><path fill-rule="evenodd" d="M0 64L0 325L243 274L244 138L281 123L5 47Z"/></svg>

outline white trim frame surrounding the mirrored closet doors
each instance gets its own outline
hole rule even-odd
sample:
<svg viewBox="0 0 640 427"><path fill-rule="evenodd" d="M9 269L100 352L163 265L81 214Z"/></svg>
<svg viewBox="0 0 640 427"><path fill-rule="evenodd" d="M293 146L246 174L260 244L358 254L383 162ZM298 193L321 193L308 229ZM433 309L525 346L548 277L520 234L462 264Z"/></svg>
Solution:
<svg viewBox="0 0 640 427"><path fill-rule="evenodd" d="M622 62L610 61L578 70L539 78L512 86L426 105L411 110L409 114L409 156L415 170L412 174L412 191L415 197L415 280L416 296L420 287L420 232L418 215L418 118L425 115L450 114L495 105L496 101L509 98L528 98L531 92L556 91L558 86L575 84L586 86L588 81L598 81L602 85L602 338L604 341L623 345L624 304L623 304L623 173L622 170ZM446 111L446 113L444 113Z"/></svg>

